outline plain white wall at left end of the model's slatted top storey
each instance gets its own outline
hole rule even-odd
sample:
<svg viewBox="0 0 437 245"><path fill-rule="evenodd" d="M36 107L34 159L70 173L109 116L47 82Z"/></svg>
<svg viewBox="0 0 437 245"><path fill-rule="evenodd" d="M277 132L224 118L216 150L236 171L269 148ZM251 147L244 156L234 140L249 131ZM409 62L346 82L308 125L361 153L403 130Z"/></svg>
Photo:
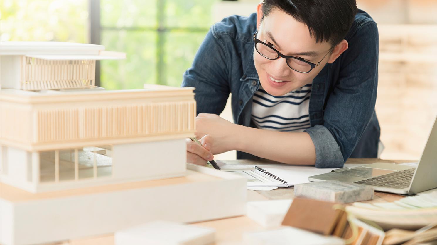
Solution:
<svg viewBox="0 0 437 245"><path fill-rule="evenodd" d="M20 57L17 55L0 56L0 87L20 89Z"/></svg>

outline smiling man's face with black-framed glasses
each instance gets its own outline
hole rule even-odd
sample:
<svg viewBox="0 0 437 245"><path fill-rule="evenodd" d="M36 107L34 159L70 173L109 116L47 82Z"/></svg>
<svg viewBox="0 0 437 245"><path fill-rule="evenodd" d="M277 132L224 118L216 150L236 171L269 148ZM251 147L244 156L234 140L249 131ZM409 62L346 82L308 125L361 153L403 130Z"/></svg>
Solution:
<svg viewBox="0 0 437 245"><path fill-rule="evenodd" d="M258 10L258 23L260 23L260 14ZM257 38L272 45L281 54L301 57L314 64L317 64L331 48L329 43L316 43L316 39L310 36L308 27L304 23L296 21L291 15L277 9L272 10L268 16L264 16L262 22L258 24ZM287 94L305 84L312 83L313 78L319 74L328 59L329 54L318 67L305 74L292 70L282 57L269 60L260 55L257 50L253 50L253 61L260 83L267 93L274 96ZM282 82L276 82L272 78Z"/></svg>

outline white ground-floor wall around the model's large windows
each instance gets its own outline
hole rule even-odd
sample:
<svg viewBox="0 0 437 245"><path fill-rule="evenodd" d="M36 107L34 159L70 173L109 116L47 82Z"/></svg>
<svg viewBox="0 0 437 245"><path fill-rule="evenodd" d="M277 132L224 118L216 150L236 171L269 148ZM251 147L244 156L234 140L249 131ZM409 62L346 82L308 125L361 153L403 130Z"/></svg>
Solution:
<svg viewBox="0 0 437 245"><path fill-rule="evenodd" d="M110 176L59 182L38 182L39 153L6 147L2 152L7 171L1 182L29 192L59 191L131 181L184 176L186 173L185 139L113 145ZM4 148L3 148L4 150ZM3 157L4 155L4 157ZM5 163L2 162L2 167Z"/></svg>

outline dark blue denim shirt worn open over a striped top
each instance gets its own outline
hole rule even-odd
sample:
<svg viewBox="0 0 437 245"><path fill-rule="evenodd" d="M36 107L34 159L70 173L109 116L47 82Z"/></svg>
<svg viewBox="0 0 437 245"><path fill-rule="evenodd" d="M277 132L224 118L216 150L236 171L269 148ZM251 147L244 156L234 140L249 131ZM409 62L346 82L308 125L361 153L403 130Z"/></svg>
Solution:
<svg viewBox="0 0 437 245"><path fill-rule="evenodd" d="M206 34L182 82L182 87L195 87L197 113L220 114L231 93L235 123L254 127L252 97L260 87L253 63L256 23L256 13L230 16ZM311 127L305 132L316 148L317 168L340 168L351 156L375 158L378 151L379 37L375 21L358 10L345 40L349 48L312 81ZM254 156L237 152L237 158Z"/></svg>

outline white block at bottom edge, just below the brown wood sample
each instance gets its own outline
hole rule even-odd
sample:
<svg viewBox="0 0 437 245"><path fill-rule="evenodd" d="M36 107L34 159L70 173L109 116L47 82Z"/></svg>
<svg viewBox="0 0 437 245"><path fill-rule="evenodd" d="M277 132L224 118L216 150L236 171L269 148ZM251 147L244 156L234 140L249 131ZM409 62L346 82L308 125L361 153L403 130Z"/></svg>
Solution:
<svg viewBox="0 0 437 245"><path fill-rule="evenodd" d="M284 227L264 232L246 232L243 235L247 245L343 245L344 240L335 236L323 236L294 227Z"/></svg>

